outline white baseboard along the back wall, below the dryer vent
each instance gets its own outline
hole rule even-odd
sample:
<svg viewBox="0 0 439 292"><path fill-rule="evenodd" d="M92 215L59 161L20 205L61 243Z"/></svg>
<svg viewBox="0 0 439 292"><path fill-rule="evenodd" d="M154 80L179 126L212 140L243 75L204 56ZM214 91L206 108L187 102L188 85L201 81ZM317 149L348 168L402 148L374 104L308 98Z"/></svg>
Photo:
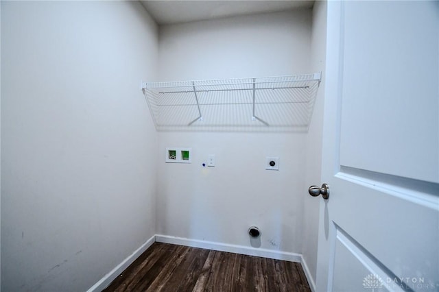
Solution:
<svg viewBox="0 0 439 292"><path fill-rule="evenodd" d="M198 239L185 239L176 236L156 234L156 241L161 243L172 243L191 247L200 247L207 250L218 250L220 252L233 252L234 254L246 254L248 256L261 256L263 258L274 258L276 260L288 260L289 262L300 263L301 254L294 252L280 252L277 250L266 250L244 245L231 245L227 243L216 243L212 241L200 241Z"/></svg>

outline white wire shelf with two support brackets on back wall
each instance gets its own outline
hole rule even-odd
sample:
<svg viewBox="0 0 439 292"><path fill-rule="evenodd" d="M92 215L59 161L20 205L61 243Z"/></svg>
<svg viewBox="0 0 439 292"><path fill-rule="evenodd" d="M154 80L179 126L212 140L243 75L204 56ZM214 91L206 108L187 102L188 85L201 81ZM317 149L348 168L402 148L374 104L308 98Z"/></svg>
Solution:
<svg viewBox="0 0 439 292"><path fill-rule="evenodd" d="M143 83L158 131L307 131L321 74Z"/></svg>

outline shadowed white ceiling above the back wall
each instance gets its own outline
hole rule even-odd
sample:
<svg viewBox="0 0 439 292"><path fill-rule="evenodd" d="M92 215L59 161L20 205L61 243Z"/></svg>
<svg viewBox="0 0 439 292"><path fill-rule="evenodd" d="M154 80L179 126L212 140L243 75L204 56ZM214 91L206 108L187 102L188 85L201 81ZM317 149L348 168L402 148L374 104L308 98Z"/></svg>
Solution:
<svg viewBox="0 0 439 292"><path fill-rule="evenodd" d="M140 1L158 25L312 8L314 1Z"/></svg>

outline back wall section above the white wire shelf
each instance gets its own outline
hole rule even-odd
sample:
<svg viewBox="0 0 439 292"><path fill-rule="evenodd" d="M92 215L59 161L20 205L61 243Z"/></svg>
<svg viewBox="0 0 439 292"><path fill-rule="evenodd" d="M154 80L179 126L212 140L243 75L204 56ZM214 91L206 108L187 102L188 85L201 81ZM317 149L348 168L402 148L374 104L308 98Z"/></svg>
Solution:
<svg viewBox="0 0 439 292"><path fill-rule="evenodd" d="M160 81L308 73L311 10L160 27Z"/></svg>

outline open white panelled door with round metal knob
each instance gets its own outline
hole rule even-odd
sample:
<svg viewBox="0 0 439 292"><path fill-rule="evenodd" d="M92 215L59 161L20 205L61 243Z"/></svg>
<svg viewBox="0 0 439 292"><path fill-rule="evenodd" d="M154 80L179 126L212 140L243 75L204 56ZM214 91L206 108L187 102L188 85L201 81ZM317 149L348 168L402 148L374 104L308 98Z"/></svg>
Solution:
<svg viewBox="0 0 439 292"><path fill-rule="evenodd" d="M439 291L439 2L327 16L316 289Z"/></svg>

